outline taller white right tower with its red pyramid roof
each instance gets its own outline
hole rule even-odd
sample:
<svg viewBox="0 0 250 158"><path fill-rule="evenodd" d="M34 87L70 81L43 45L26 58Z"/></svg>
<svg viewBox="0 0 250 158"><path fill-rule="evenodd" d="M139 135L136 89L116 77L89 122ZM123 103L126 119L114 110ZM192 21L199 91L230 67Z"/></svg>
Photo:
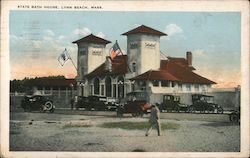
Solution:
<svg viewBox="0 0 250 158"><path fill-rule="evenodd" d="M131 77L160 68L160 37L165 33L141 25L122 35L127 36L127 54Z"/></svg>

